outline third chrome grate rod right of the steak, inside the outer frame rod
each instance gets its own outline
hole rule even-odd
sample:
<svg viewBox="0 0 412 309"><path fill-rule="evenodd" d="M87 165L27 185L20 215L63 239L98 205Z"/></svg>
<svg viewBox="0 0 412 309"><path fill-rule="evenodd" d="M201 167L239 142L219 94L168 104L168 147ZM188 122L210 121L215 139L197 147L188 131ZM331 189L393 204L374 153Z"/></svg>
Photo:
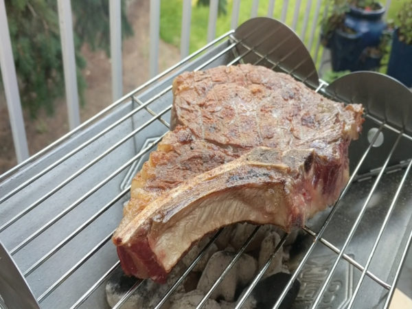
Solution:
<svg viewBox="0 0 412 309"><path fill-rule="evenodd" d="M352 297L350 299L350 303L348 305L347 308L352 308L353 304L354 304L354 300L356 295L358 294L359 288L361 288L361 284L363 282L363 278L365 277L365 273L367 272L367 269L369 268L369 264L371 264L372 258L374 257L374 253L376 251L376 249L378 248L378 243L380 238L382 238L383 235L383 231L385 230L385 227L387 226L387 223L389 222L389 218L391 217L393 208L395 207L395 203L398 201L400 192L404 186L405 181L407 180L407 176L409 175L409 171L411 170L411 165L412 165L412 160L409 161L409 165L407 167L407 170L404 172L404 175L402 177L402 180L400 181L400 184L398 186L398 190L396 190L395 196L393 196L391 205L389 206L389 209L387 211L387 214L385 216L385 220L383 220L382 222L382 226L380 227L378 236L376 237L376 240L374 242L374 247L372 247L371 249L371 253L369 254L366 264L365 264L365 269L363 270L361 277L358 279L358 284L356 285L355 290L352 293Z"/></svg>

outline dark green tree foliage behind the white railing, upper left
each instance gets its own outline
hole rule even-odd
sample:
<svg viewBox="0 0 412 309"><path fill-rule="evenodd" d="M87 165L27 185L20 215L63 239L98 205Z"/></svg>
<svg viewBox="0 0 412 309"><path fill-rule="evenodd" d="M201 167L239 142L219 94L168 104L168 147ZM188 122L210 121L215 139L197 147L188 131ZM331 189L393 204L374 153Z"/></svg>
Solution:
<svg viewBox="0 0 412 309"><path fill-rule="evenodd" d="M133 33L122 1L122 36ZM86 62L80 47L109 51L108 0L73 0L73 37L80 103L86 83L81 74ZM56 0L6 0L8 24L21 103L36 117L41 108L50 115L53 102L65 93Z"/></svg>

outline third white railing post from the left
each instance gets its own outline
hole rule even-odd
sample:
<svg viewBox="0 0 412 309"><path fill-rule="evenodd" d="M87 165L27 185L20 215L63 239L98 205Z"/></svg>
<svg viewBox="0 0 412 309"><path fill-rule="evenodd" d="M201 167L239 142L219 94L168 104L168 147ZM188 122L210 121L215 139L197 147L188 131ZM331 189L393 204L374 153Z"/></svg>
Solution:
<svg viewBox="0 0 412 309"><path fill-rule="evenodd" d="M109 0L110 16L110 58L112 67L112 98L113 102L122 98L122 1Z"/></svg>

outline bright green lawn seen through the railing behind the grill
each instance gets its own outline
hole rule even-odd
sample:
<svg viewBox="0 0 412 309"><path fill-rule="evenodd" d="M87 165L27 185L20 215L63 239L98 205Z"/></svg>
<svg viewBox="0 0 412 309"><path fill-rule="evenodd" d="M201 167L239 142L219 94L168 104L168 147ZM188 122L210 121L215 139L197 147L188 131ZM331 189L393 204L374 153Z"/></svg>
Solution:
<svg viewBox="0 0 412 309"><path fill-rule="evenodd" d="M231 12L232 12L232 0L227 0L227 15L220 14L216 23L216 36L220 36L230 30L231 24ZM310 49L310 54L314 56L316 53L317 42L319 41L320 33L320 21L325 4L330 0L322 0L319 19L314 32L314 41ZM394 19L396 12L400 10L400 6L407 0L393 0L391 8L387 14L387 19ZM289 0L288 12L286 15L286 24L292 25L293 14L295 11L295 5L298 0ZM209 8L205 6L196 5L197 0L192 0L192 20L190 24L190 53L203 47L207 43L207 22L209 19ZM250 18L251 7L253 0L242 0L240 3L239 12L239 25ZM273 10L273 18L280 19L282 14L282 5L284 1L275 1L275 9ZM304 23L304 16L306 14L306 7L308 0L301 0L299 19L297 23L296 32L300 36ZM385 5L386 0L381 1ZM260 0L258 16L267 16L268 1ZM304 43L308 45L310 39L310 32L312 31L312 22L314 19L314 11L316 8L317 0L312 0L309 11L309 21L304 36ZM180 47L181 36L181 19L182 19L183 0L163 0L161 1L161 23L160 23L160 36L163 41ZM319 65L321 53L323 47L319 48L319 56L317 58L317 65Z"/></svg>

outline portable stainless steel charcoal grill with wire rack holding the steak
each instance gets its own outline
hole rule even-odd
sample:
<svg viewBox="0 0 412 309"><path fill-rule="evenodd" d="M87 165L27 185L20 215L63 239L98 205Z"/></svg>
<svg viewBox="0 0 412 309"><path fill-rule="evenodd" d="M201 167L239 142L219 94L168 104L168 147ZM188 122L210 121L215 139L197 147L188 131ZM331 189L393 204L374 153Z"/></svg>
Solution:
<svg viewBox="0 0 412 309"><path fill-rule="evenodd" d="M412 93L373 72L352 73L329 85L319 81L299 38L266 18L251 19L216 38L1 176L0 295L6 306L108 307L104 283L119 267L111 235L122 218L130 180L168 131L173 78L183 71L241 62L286 71L319 93L360 102L367 111L363 134L350 147L350 181L339 201L304 227L290 258L295 271L275 308L295 279L301 290L294 308L389 306L412 238ZM285 234L236 308L287 240ZM141 281L133 284L115 308L139 286Z"/></svg>

